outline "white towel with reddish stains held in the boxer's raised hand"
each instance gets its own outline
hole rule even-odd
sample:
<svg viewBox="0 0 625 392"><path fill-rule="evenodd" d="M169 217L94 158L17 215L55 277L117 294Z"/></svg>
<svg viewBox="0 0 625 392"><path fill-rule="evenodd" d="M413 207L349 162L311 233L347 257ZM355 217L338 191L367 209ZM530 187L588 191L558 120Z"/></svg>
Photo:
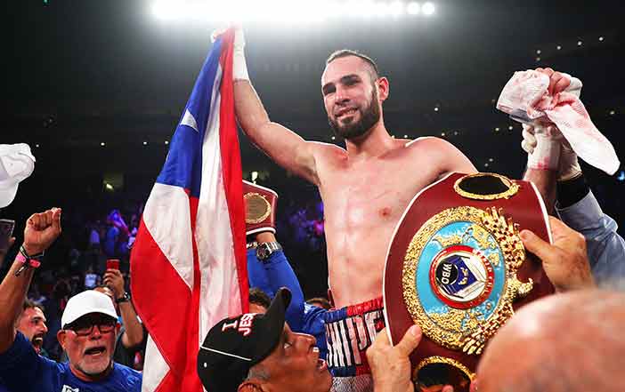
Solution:
<svg viewBox="0 0 625 392"><path fill-rule="evenodd" d="M497 108L520 123L532 124L540 119L556 124L580 158L613 174L621 164L613 145L592 124L581 103L580 80L564 75L570 78L571 85L564 92L551 95L549 76L534 70L515 72L501 91Z"/></svg>

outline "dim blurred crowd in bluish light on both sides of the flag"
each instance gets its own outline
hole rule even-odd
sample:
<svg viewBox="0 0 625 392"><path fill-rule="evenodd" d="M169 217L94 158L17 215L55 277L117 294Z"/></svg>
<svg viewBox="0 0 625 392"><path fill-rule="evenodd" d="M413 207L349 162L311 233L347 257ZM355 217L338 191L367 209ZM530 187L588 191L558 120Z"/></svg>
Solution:
<svg viewBox="0 0 625 392"><path fill-rule="evenodd" d="M297 192L297 190L296 190ZM323 232L323 204L316 190L307 199L305 192L285 192L280 197L278 233L280 244L293 255L293 268L309 297L325 295L327 261ZM295 200L298 200L296 202ZM301 201L305 200L304 203ZM130 292L130 251L139 228L142 203L107 200L93 206L77 206L63 217L64 230L53 253L37 271L28 291L28 299L45 310L49 332L45 335L44 355L59 360L62 350L56 339L61 328L61 314L69 298L102 284L106 260L119 260L119 269ZM18 228L16 228L18 229ZM15 233L19 235L19 233ZM12 252L17 252L12 249ZM12 255L9 255L9 259ZM319 265L318 274L306 276L305 266ZM0 269L4 276L9 263ZM132 295L132 293L131 293ZM141 363L136 364L141 368Z"/></svg>

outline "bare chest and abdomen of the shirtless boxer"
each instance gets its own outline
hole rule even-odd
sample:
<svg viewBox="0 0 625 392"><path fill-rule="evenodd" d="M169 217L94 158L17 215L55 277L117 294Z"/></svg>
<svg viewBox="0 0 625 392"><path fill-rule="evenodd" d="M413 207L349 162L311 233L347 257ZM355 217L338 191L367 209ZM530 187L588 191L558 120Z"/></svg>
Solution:
<svg viewBox="0 0 625 392"><path fill-rule="evenodd" d="M376 298L395 225L418 191L437 179L440 165L399 154L357 164L337 159L322 168L320 190L334 299L337 306L345 306Z"/></svg>

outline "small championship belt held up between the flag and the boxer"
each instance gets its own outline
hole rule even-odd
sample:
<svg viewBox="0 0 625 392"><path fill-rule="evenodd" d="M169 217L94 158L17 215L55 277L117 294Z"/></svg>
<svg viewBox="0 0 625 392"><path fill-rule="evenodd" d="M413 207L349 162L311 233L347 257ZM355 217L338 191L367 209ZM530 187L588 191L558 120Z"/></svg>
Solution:
<svg viewBox="0 0 625 392"><path fill-rule="evenodd" d="M276 232L277 193L270 188L264 188L243 180L243 202L245 204L246 236L263 231Z"/></svg>

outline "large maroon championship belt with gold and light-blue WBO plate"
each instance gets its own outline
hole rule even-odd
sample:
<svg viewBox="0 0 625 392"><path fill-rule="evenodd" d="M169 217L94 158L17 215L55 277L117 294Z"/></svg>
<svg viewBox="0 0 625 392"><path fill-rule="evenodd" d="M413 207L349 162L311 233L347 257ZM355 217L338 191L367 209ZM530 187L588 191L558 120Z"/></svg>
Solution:
<svg viewBox="0 0 625 392"><path fill-rule="evenodd" d="M551 242L531 182L452 173L412 199L386 257L384 302L392 342L412 324L423 330L410 356L418 387L468 391L484 346L515 308L554 292L524 250L524 228Z"/></svg>

